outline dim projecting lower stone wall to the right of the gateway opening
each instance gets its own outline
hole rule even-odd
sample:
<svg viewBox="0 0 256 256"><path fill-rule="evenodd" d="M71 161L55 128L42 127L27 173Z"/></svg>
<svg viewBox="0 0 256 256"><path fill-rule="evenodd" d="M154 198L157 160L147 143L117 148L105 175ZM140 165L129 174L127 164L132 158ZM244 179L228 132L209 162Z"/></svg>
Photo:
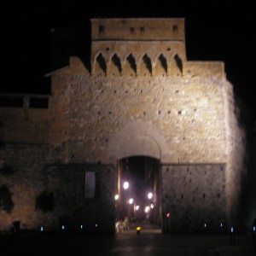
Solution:
<svg viewBox="0 0 256 256"><path fill-rule="evenodd" d="M161 167L161 180L164 231L227 229L225 165L165 165ZM168 219L167 213L170 213Z"/></svg>

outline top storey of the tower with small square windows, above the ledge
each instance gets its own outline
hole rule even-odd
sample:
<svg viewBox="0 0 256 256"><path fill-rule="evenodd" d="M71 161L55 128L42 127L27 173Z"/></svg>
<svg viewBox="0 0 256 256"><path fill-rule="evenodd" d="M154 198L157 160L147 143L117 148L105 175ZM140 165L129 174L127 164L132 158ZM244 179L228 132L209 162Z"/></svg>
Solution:
<svg viewBox="0 0 256 256"><path fill-rule="evenodd" d="M184 18L90 19L91 40L185 43Z"/></svg>

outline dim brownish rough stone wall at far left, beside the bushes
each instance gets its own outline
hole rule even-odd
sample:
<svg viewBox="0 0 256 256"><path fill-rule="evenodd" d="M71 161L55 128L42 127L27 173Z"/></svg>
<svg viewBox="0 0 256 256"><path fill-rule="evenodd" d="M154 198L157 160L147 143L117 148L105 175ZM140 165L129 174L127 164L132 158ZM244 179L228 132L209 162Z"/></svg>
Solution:
<svg viewBox="0 0 256 256"><path fill-rule="evenodd" d="M0 230L9 230L14 221L21 229L36 229L44 216L36 210L36 198L45 187L44 166L55 159L46 145L5 144L0 150L0 186L5 185L14 203L9 214L0 212ZM47 214L46 214L47 215Z"/></svg>

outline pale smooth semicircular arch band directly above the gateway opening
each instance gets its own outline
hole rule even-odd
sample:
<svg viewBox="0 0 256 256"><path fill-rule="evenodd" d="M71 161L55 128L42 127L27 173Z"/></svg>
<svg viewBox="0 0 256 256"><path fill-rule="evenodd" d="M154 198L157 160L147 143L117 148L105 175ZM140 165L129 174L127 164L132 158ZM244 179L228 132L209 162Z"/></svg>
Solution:
<svg viewBox="0 0 256 256"><path fill-rule="evenodd" d="M167 143L154 125L137 121L123 126L110 138L103 162L114 164L116 160L135 156L165 158Z"/></svg>

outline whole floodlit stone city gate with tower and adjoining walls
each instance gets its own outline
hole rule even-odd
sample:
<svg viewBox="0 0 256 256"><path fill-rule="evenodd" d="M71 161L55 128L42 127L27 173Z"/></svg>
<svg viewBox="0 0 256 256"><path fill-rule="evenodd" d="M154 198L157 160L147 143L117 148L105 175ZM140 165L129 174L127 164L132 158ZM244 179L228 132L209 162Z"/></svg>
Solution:
<svg viewBox="0 0 256 256"><path fill-rule="evenodd" d="M15 207L0 230L114 231L131 157L154 169L164 232L236 223L243 133L224 63L187 61L183 19L90 21L90 67L71 57L50 96L4 96L0 186Z"/></svg>

